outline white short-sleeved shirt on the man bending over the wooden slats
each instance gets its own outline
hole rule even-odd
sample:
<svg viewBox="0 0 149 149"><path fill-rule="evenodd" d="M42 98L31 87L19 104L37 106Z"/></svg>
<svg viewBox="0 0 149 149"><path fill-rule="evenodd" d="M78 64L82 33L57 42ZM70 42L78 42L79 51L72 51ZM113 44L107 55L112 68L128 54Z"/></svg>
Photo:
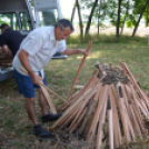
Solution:
<svg viewBox="0 0 149 149"><path fill-rule="evenodd" d="M66 50L66 48L67 46L64 40L56 40L54 27L42 27L34 29L24 38L19 51L23 49L28 52L29 63L31 69L36 72L41 71L43 66L51 60L52 56L57 51L62 52ZM17 71L24 74L20 70L22 64L18 57L19 51L17 52L12 64Z"/></svg>

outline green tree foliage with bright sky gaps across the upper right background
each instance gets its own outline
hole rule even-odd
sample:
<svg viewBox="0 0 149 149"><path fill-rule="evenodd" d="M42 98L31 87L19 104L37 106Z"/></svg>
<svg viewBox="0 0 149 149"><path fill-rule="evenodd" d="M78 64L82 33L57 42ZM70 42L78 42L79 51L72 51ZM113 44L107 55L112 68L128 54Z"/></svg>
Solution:
<svg viewBox="0 0 149 149"><path fill-rule="evenodd" d="M33 0L29 0L33 6ZM119 38L125 27L135 28L132 37L135 37L141 19L145 20L146 26L149 26L149 0L76 0L72 8L71 21L78 10L79 27L81 39L89 34L90 27L96 24L98 28L106 22L110 22L116 27L116 37ZM88 13L82 13L88 10ZM85 30L82 22L85 23Z"/></svg>

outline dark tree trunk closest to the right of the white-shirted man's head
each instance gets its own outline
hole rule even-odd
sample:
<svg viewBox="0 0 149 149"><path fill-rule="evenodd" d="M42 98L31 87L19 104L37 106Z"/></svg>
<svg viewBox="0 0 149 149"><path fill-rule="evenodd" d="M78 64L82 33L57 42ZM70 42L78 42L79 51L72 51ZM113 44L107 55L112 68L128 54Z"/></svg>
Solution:
<svg viewBox="0 0 149 149"><path fill-rule="evenodd" d="M83 26L82 26L82 18L81 18L81 10L79 1L77 0L77 8L78 8L78 16L79 16L79 27L80 27L80 40L83 40Z"/></svg>

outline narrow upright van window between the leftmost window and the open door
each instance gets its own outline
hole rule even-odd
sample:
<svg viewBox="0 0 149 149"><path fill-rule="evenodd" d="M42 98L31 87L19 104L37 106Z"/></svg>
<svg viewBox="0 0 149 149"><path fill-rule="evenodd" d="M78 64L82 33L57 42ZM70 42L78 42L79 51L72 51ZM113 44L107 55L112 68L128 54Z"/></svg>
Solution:
<svg viewBox="0 0 149 149"><path fill-rule="evenodd" d="M22 30L29 31L30 26L29 26L27 13L24 13L24 12L20 13L20 19L21 19L21 28L22 28Z"/></svg>

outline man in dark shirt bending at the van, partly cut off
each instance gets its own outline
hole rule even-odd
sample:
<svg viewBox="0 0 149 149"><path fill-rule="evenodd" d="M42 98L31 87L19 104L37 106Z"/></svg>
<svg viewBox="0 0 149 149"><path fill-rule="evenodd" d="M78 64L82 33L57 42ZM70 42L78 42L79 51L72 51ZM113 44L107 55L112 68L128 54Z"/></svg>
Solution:
<svg viewBox="0 0 149 149"><path fill-rule="evenodd" d="M2 32L0 37L2 51L7 57L14 57L23 39L22 34L18 31L13 31L7 23L2 23L0 29Z"/></svg>

